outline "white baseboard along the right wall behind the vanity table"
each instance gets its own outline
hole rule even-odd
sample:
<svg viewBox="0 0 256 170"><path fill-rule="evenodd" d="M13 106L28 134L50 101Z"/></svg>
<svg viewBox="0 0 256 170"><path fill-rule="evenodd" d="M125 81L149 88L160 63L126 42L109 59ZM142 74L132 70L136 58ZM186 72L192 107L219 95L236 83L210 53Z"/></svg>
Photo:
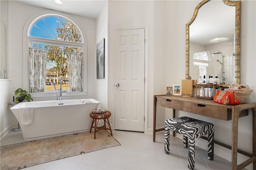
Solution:
<svg viewBox="0 0 256 170"><path fill-rule="evenodd" d="M150 133L151 132L151 133ZM162 133L163 131L159 131L157 133ZM148 129L148 134L153 134L153 129ZM183 136L176 133L175 137L178 137L183 140ZM202 139L202 138L197 138L196 139L196 146L200 147L204 150L208 150L208 141ZM228 148L222 147L220 145L214 144L214 154L220 156L221 158L224 158L228 161L231 162L231 153L232 151ZM246 161L249 159L248 156L245 156L243 154L238 153L237 154L237 163L241 164L242 162ZM253 170L253 164L251 163L250 165L245 167L248 170Z"/></svg>

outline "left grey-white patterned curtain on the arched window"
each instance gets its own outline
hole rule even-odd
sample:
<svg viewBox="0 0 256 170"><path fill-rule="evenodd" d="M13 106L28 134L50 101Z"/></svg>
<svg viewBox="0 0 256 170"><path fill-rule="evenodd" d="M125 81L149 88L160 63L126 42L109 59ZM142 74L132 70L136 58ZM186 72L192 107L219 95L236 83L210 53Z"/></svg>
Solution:
<svg viewBox="0 0 256 170"><path fill-rule="evenodd" d="M46 50L29 49L29 92L44 92L45 80Z"/></svg>

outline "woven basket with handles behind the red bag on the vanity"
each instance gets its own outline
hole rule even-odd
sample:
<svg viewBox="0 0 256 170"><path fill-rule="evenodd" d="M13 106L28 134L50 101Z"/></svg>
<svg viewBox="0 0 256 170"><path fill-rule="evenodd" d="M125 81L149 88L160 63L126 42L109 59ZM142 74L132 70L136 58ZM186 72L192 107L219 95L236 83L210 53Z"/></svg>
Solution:
<svg viewBox="0 0 256 170"><path fill-rule="evenodd" d="M243 89L238 89L239 87L243 87ZM240 104L243 104L246 102L246 100L249 98L250 94L253 90L250 90L250 87L247 84L231 84L229 88L224 89L229 92L234 92L236 96L240 100Z"/></svg>

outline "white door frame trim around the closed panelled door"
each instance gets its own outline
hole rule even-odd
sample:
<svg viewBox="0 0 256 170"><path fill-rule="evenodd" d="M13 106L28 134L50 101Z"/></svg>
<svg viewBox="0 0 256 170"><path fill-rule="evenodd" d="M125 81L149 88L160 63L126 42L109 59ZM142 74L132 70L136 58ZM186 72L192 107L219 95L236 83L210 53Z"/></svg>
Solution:
<svg viewBox="0 0 256 170"><path fill-rule="evenodd" d="M148 26L141 26L141 27L128 27L128 28L122 28L122 29L113 29L113 42L112 42L112 53L114 53L114 33L115 31L124 31L124 30L129 30L129 29L144 29L145 30L145 48L144 48L144 74L145 74L145 82L144 82L144 133L148 133ZM114 59L114 55L113 55L113 59ZM112 64L112 70L113 72L115 72L115 66L114 64ZM113 77L114 79L114 77ZM114 80L113 80L114 81ZM115 99L115 96L113 96L113 98ZM114 106L114 104L113 104ZM115 106L114 106L115 107ZM114 116L115 113L112 115L112 127L113 129L115 129L115 122L114 122Z"/></svg>

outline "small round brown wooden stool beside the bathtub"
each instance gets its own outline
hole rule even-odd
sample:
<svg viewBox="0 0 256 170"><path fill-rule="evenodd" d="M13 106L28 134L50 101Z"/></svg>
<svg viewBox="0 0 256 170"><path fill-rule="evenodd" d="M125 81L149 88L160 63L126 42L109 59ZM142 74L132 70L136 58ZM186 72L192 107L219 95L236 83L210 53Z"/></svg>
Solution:
<svg viewBox="0 0 256 170"><path fill-rule="evenodd" d="M111 116L110 111L105 111L105 113L92 113L92 112L90 113L90 117L92 117L92 125L91 125L91 129L90 129L90 133L92 131L92 128L94 127L94 139L96 139L96 132L98 132L102 129L110 130L111 136L113 136L112 135L112 130L111 130L111 127L110 127L110 123L109 123L109 120L108 120L108 118L110 116ZM100 119L104 119L104 125L103 126L97 126ZM93 126L93 123L95 123L94 126ZM106 123L108 124L109 128L106 127Z"/></svg>

